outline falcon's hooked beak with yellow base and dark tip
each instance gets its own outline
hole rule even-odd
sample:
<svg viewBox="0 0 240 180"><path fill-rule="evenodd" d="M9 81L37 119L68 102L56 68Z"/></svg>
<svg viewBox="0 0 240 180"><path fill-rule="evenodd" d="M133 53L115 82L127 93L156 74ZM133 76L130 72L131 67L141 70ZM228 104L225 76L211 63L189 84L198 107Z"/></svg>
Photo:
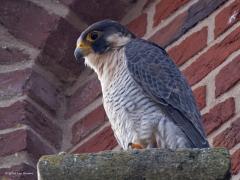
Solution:
<svg viewBox="0 0 240 180"><path fill-rule="evenodd" d="M90 45L80 42L77 44L77 47L74 51L74 56L78 62L82 61L82 59L87 56L92 51Z"/></svg>

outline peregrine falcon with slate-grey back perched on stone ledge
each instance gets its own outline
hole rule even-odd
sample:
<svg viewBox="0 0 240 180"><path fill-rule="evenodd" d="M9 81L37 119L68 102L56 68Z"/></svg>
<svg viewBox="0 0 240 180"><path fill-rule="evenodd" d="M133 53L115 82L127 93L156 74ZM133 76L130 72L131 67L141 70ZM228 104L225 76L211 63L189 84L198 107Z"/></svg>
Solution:
<svg viewBox="0 0 240 180"><path fill-rule="evenodd" d="M81 33L74 56L97 74L123 150L209 147L192 90L164 48L105 19Z"/></svg>

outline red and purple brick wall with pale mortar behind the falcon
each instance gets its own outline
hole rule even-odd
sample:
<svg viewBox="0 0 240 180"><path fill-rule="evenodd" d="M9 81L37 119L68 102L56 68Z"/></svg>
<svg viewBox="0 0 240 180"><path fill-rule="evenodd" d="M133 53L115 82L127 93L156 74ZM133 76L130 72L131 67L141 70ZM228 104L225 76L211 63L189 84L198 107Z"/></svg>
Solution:
<svg viewBox="0 0 240 180"><path fill-rule="evenodd" d="M0 177L36 178L43 154L119 149L99 81L73 57L81 30L112 18L166 48L239 180L240 1L112 2L0 0Z"/></svg>

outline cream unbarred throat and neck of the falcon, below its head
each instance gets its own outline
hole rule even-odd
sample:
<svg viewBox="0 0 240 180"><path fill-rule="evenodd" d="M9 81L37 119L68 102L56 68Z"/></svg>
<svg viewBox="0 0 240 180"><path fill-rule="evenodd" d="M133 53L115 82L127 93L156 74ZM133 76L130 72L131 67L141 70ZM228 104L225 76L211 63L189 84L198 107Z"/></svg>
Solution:
<svg viewBox="0 0 240 180"><path fill-rule="evenodd" d="M109 85L118 66L123 61L124 48L115 49L104 54L90 54L85 58L87 66L92 68L98 75L102 88Z"/></svg>

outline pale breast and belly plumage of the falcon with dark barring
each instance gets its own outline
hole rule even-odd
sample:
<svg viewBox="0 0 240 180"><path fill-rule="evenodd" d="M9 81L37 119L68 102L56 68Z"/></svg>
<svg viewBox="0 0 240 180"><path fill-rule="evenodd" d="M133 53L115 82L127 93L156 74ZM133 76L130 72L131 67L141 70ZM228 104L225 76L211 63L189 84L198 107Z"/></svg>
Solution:
<svg viewBox="0 0 240 180"><path fill-rule="evenodd" d="M114 59L111 61L118 63L112 73L111 82L99 76L103 85L104 108L119 144L124 149L128 148L129 142L139 141L149 147L188 147L185 135L169 121L161 108L145 95L130 76L124 51L122 48L112 56ZM107 62L104 62L106 66ZM157 128L158 126L160 127Z"/></svg>

